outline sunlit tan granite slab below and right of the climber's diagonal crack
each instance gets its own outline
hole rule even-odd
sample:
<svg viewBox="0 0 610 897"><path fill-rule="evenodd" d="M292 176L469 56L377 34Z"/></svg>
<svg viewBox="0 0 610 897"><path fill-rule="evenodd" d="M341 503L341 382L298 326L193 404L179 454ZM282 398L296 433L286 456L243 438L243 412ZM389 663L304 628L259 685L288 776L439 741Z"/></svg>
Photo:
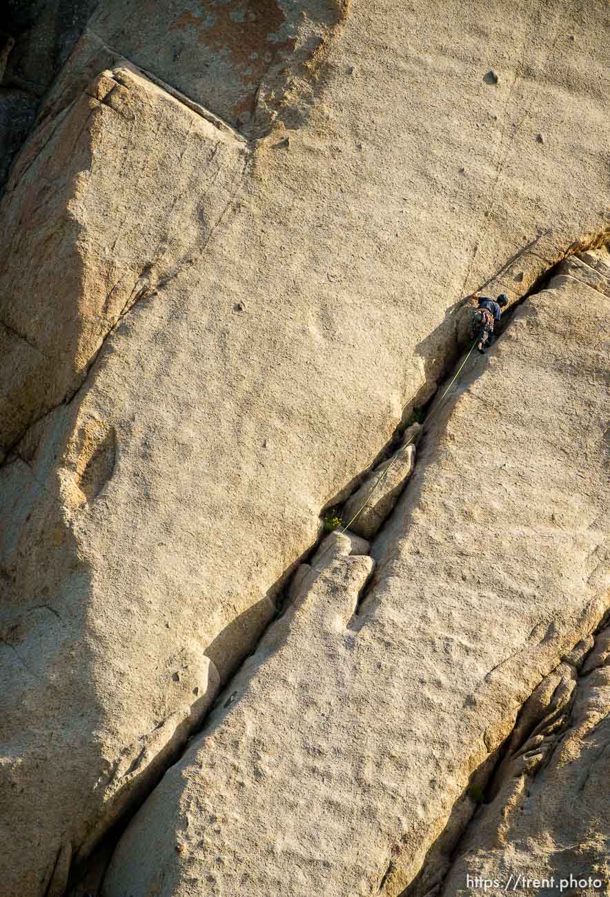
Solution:
<svg viewBox="0 0 610 897"><path fill-rule="evenodd" d="M557 827L558 853L571 843L553 806L567 812L588 770L590 788L603 780L608 711L605 674L591 673L562 737L608 606L598 343L610 306L579 270L530 297L432 407L414 475L372 544L365 596L372 565L347 557L348 541L344 557L322 553L321 569L297 576L287 613L119 841L106 897L431 893L523 704L498 773L509 797L495 798L484 830L484 877L498 837L507 872L528 868L529 830L513 840L501 807L526 788L515 775L534 775L557 744L560 780L542 777L533 825L541 847ZM583 675L604 662L604 638ZM604 799L585 801L579 820L578 868L590 861L604 877ZM468 871L484 852L476 825L471 843ZM470 893L464 869L454 875L444 893Z"/></svg>

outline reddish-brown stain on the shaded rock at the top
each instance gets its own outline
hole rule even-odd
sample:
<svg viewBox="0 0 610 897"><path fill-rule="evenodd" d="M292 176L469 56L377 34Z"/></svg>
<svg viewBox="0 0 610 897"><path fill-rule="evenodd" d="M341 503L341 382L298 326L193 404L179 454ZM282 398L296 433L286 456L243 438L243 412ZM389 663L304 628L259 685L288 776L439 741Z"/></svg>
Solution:
<svg viewBox="0 0 610 897"><path fill-rule="evenodd" d="M254 111L259 83L278 54L294 50L295 40L277 39L285 22L277 0L206 0L201 7L200 15L186 10L170 30L194 28L200 44L231 63L236 86L241 88L233 114L240 118Z"/></svg>

